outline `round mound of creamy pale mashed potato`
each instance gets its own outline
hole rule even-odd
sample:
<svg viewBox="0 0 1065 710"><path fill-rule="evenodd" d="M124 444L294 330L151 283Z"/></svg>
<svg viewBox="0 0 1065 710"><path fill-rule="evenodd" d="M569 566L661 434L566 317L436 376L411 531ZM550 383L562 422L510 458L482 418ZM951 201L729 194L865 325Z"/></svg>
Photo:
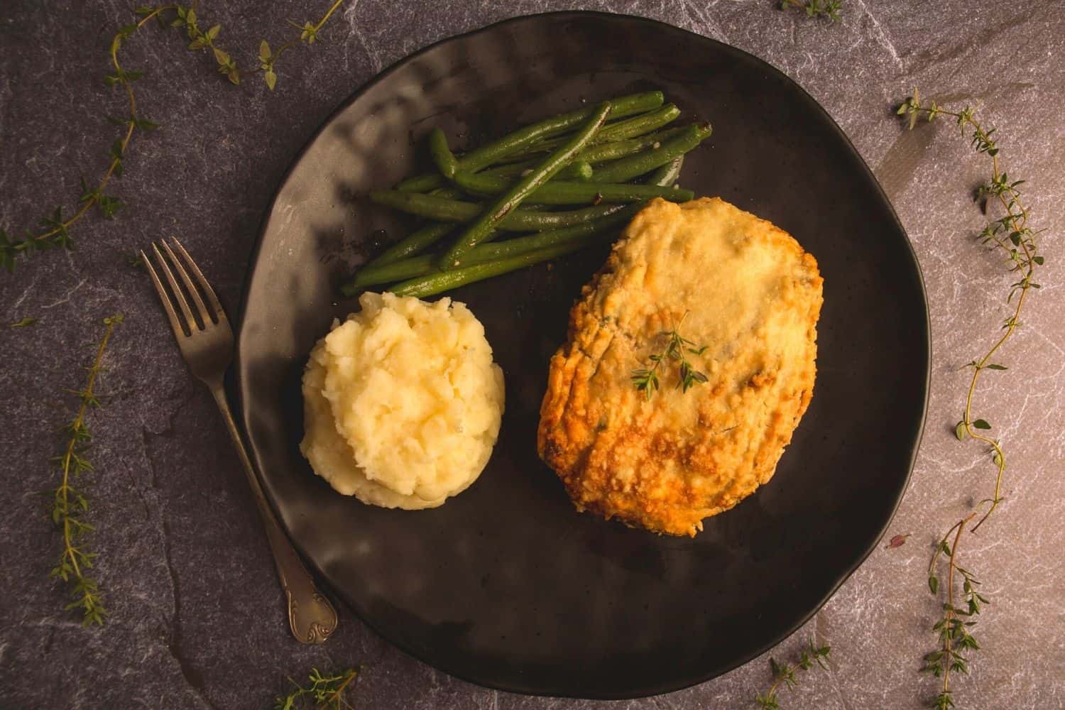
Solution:
<svg viewBox="0 0 1065 710"><path fill-rule="evenodd" d="M304 374L300 450L340 493L435 508L473 483L503 416L503 370L463 303L363 294Z"/></svg>

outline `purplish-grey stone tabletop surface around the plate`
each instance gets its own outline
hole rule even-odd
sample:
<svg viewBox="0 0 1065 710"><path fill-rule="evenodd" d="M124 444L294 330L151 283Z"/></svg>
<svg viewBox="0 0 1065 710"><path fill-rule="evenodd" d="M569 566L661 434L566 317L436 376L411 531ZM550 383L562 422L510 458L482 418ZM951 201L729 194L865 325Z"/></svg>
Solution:
<svg viewBox="0 0 1065 710"><path fill-rule="evenodd" d="M247 65L263 35L280 36L327 3L207 2ZM914 85L952 105L972 103L999 129L1001 158L1025 178L1032 222L1045 229L1044 287L1001 353L1010 366L982 382L979 413L1009 451L1006 500L964 564L992 599L983 648L955 682L963 708L1065 706L1065 17L1056 2L846 0L842 23L781 12L772 0L624 2L589 9L655 17L752 52L793 78L839 122L889 194L928 286L934 336L928 427L905 499L881 547L801 631L772 655L793 658L807 638L831 643L829 672L784 692L785 708L916 708L935 682L918 675L933 648L937 601L925 589L938 533L987 494L985 452L953 439L967 376L1006 315L1002 260L973 244L984 217L972 187L986 164L947 122L904 132L890 109ZM322 7L320 7L322 6ZM0 4L0 226L33 225L70 205L78 180L105 167L122 98L101 81L105 48L130 3ZM147 77L145 115L165 125L136 137L113 192L114 221L86 218L78 249L50 252L0 276L0 707L263 708L285 677L316 664L363 664L351 699L376 708L752 708L770 682L767 658L677 693L601 704L486 690L420 663L342 611L328 644L299 646L281 618L272 561L239 462L214 403L194 382L144 274L124 254L177 234L223 300L235 308L260 216L299 147L333 108L382 67L431 42L510 15L570 9L551 0L392 3L349 0L325 42L279 64L268 93L230 86L207 55L151 30L124 54ZM313 11L313 13L312 13ZM68 208L69 210L69 208ZM48 580L56 536L39 491L67 416L65 387L83 379L101 318L121 312L94 412L92 519L97 576L111 616L82 629ZM890 426L890 423L885 423ZM886 540L886 538L885 538ZM767 655L768 656L768 655Z"/></svg>

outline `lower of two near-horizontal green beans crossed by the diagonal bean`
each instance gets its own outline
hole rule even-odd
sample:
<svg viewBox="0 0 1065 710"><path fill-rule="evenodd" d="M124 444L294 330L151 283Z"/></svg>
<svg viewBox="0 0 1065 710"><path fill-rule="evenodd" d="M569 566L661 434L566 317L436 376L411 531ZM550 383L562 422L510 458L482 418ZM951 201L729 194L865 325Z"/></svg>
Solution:
<svg viewBox="0 0 1065 710"><path fill-rule="evenodd" d="M400 193L397 189L372 191L370 199L393 210L438 221L470 221L485 211L485 204L480 202L461 202L419 193ZM498 228L511 232L532 232L571 227L589 219L606 217L620 209L622 205L619 204L597 204L571 212L514 210L503 218Z"/></svg>

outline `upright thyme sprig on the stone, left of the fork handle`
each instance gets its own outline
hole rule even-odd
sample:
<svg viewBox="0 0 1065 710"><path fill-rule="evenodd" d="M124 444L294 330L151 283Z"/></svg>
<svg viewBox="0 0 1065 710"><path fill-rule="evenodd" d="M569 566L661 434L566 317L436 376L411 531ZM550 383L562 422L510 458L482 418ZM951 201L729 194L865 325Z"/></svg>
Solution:
<svg viewBox="0 0 1065 710"><path fill-rule="evenodd" d="M88 377L85 380L85 386L79 391L68 391L78 396L78 411L73 419L64 428L68 434L66 445L61 453L52 459L58 463L62 478L59 488L51 492L50 514L52 523L63 535L63 551L60 554L59 563L49 573L49 576L62 580L69 588L70 602L66 605L66 609L68 611L81 610L82 624L85 626L102 625L108 611L103 608L100 588L88 573L97 557L96 552L91 552L85 547L85 535L93 531L93 525L83 517L83 514L88 511L88 498L85 497L81 489L75 488L73 481L81 474L93 470L93 464L85 458L93 439L88 431L86 417L88 410L100 406L100 399L96 394L96 382L103 367L103 352L108 348L108 342L111 340L115 326L121 321L121 314L103 319L103 336L96 346L96 357L93 359L93 364L87 368Z"/></svg>

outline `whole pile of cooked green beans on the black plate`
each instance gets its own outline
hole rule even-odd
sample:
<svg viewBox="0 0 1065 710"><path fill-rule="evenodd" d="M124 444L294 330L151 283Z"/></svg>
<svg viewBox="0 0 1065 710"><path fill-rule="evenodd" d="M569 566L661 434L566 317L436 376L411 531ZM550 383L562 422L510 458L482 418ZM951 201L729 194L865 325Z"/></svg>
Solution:
<svg viewBox="0 0 1065 710"><path fill-rule="evenodd" d="M342 291L392 284L400 296L431 296L595 244L655 197L692 199L676 181L685 153L710 126L666 128L681 112L662 101L661 92L618 97L459 155L433 129L437 172L370 193L425 224L360 266ZM525 233L489 244L514 232ZM432 251L445 236L446 246Z"/></svg>

